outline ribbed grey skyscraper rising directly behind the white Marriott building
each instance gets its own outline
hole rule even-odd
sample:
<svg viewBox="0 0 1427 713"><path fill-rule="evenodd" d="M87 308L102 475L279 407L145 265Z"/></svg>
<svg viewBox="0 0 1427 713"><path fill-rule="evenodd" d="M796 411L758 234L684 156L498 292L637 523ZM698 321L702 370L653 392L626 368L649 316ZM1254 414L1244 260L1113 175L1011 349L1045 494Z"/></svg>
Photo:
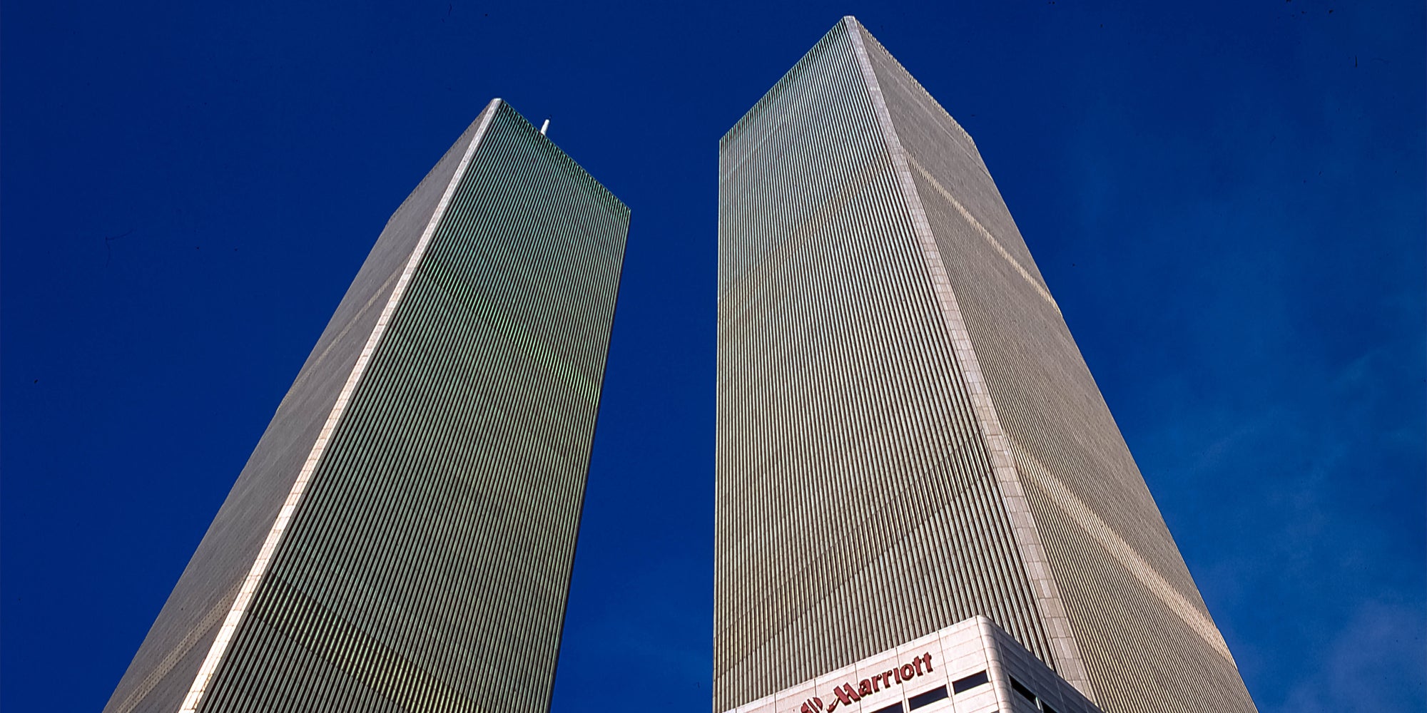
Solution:
<svg viewBox="0 0 1427 713"><path fill-rule="evenodd" d="M852 17L719 143L716 446L715 710L976 615L1109 713L1254 710L976 145Z"/></svg>

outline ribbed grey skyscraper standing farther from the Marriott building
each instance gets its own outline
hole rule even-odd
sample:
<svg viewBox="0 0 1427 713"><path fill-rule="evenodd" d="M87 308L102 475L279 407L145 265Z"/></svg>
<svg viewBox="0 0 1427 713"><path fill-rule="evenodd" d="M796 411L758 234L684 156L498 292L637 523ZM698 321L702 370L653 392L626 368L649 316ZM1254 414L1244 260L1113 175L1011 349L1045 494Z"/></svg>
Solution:
<svg viewBox="0 0 1427 713"><path fill-rule="evenodd" d="M106 713L544 713L628 228L492 100L387 222Z"/></svg>

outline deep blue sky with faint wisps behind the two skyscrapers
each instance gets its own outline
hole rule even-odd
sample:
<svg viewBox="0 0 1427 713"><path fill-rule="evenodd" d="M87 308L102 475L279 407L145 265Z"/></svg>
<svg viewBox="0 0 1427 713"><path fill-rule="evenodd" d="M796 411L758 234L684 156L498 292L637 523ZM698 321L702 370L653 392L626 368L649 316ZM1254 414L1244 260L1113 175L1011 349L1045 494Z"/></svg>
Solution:
<svg viewBox="0 0 1427 713"><path fill-rule="evenodd" d="M1264 712L1427 709L1421 1L7 1L0 707L97 710L491 97L634 211L555 712L708 703L716 141L842 14L976 138Z"/></svg>

